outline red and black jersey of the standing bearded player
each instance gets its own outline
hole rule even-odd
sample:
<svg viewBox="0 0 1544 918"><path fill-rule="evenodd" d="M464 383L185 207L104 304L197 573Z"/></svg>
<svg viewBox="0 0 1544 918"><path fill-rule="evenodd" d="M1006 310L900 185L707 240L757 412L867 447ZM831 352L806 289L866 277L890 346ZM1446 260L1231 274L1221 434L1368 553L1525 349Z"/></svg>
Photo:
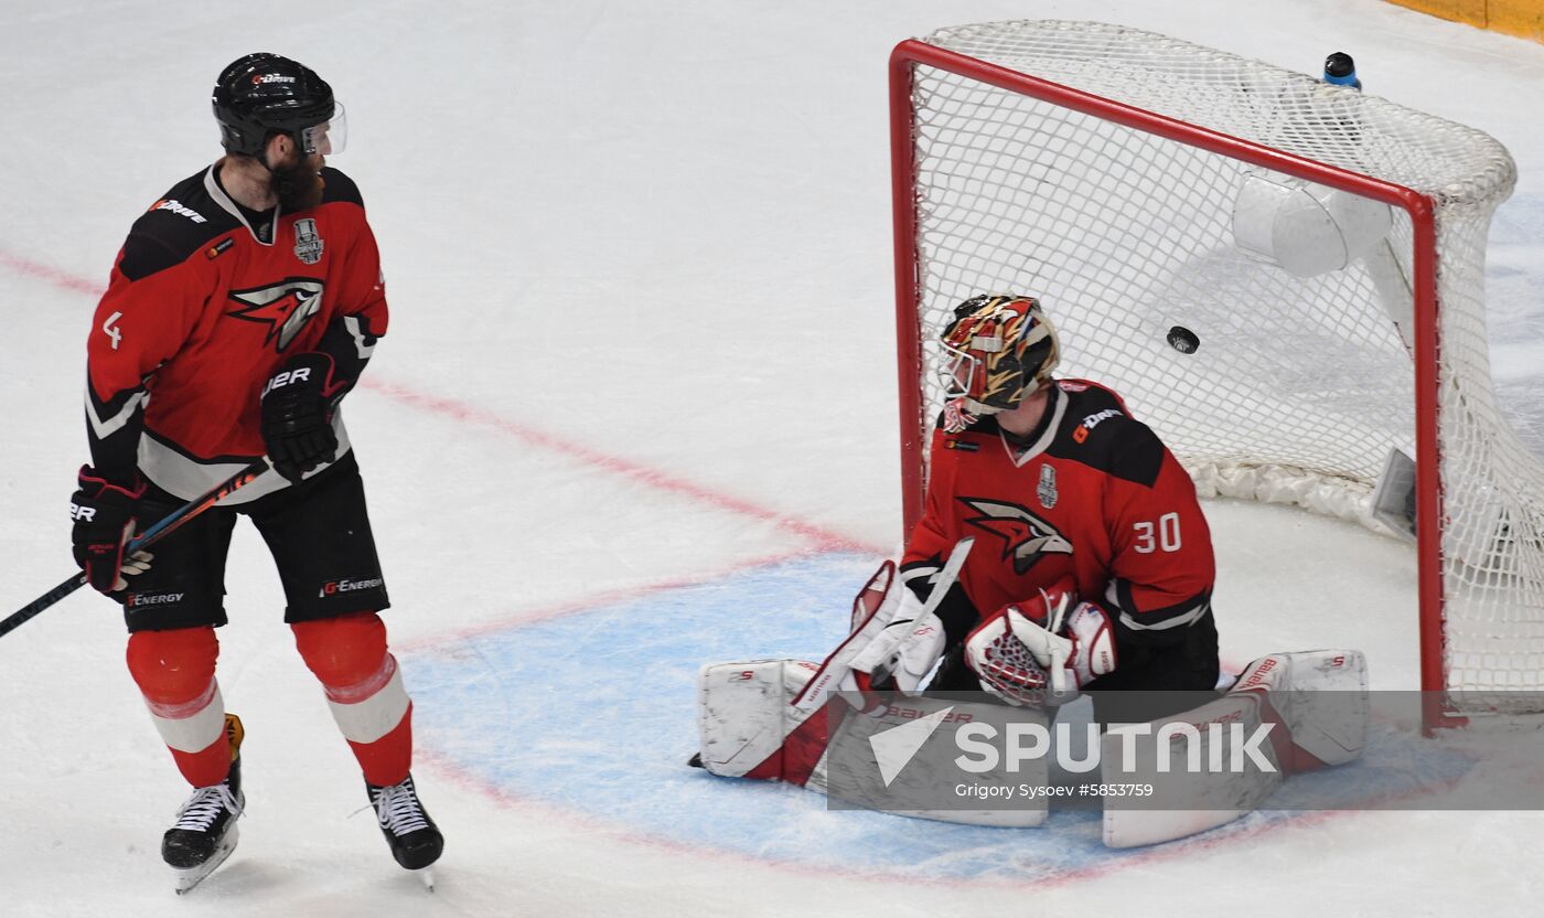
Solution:
<svg viewBox="0 0 1544 918"><path fill-rule="evenodd" d="M262 454L259 396L293 354L358 379L386 332L375 236L354 182L324 168L317 207L238 206L221 164L171 187L128 233L86 343L97 471L191 499ZM341 414L338 453L347 451ZM320 470L318 470L320 471ZM286 482L264 476L232 502Z"/></svg>

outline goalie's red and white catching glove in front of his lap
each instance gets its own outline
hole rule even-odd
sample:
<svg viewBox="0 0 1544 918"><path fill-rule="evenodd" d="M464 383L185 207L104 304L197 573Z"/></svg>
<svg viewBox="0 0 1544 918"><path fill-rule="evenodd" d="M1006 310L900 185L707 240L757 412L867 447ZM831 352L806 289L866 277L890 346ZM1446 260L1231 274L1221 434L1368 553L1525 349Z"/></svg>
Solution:
<svg viewBox="0 0 1544 918"><path fill-rule="evenodd" d="M1062 578L1033 600L1004 606L965 638L965 663L984 689L1010 705L1062 705L1115 671L1109 612L1073 593L1072 578Z"/></svg>

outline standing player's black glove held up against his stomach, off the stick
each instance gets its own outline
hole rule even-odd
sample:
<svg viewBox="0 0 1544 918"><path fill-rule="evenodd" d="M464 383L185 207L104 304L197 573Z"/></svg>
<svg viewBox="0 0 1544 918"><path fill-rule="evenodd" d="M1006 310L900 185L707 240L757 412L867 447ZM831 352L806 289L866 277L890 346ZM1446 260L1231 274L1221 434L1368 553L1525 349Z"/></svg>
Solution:
<svg viewBox="0 0 1544 918"><path fill-rule="evenodd" d="M300 481L338 456L332 408L343 388L332 380L332 357L317 352L290 357L269 380L262 388L262 444L275 471Z"/></svg>

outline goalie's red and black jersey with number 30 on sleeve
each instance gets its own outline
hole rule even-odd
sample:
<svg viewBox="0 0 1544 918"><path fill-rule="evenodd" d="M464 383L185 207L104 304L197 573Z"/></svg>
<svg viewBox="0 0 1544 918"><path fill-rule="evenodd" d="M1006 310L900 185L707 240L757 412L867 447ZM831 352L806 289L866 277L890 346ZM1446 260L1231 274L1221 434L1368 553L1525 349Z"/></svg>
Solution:
<svg viewBox="0 0 1544 918"><path fill-rule="evenodd" d="M1122 643L1177 643L1210 612L1217 567L1195 485L1096 383L1058 380L1025 442L990 416L934 431L926 510L902 558L908 584L925 592L963 536L976 544L959 587L980 617L1064 575L1110 612Z"/></svg>

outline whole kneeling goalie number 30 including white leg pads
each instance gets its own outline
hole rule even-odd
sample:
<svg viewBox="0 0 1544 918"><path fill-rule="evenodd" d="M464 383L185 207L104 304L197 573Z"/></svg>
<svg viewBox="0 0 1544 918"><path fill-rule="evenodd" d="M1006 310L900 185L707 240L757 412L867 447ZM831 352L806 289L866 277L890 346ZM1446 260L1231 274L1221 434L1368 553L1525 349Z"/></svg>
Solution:
<svg viewBox="0 0 1544 918"><path fill-rule="evenodd" d="M946 405L933 434L923 518L900 564L886 561L860 590L848 637L823 663L704 666L692 765L906 816L1034 827L1047 818L1044 796L1039 807L982 810L886 796L916 753L909 746L897 762L896 750L923 740L911 731L900 746L875 743L882 734L922 719L934 728L945 719L990 722L1002 708L883 689L985 689L1025 708L1014 722L1024 725L1048 725L1059 705L1087 691L1098 722L1146 723L1150 729L1133 736L1149 739L1166 720L1258 726L1269 719L1283 728L1272 733L1271 771L1177 779L1164 785L1178 794L1170 799L1184 801L1172 811L1107 805L1104 842L1132 847L1221 825L1265 801L1285 774L1360 754L1366 709L1357 699L1366 665L1357 651L1272 654L1246 666L1227 694L1215 691L1215 561L1195 488L1119 396L1051 376L1061 346L1036 300L973 297L956 308L942 343ZM843 716L852 695L832 716L834 691L863 692L865 716ZM1305 691L1323 691L1325 700L1305 700ZM862 750L865 765L854 770L848 757L832 767L840 737L845 750ZM1126 737L1104 743L1112 740ZM1136 754L1130 773L1113 765L1119 754L1106 756L1101 768L1113 771L1101 776L1169 779L1163 767L1143 771L1156 762L1155 748ZM871 780L869 760L883 788ZM896 771L886 773L886 762ZM1024 768L1010 770L1014 784L1048 780L1044 757L1017 765ZM928 782L940 776L956 788L957 780L993 785L1004 777L923 768L913 773L911 790L931 793L937 787ZM1195 801L1226 805L1195 810Z"/></svg>

